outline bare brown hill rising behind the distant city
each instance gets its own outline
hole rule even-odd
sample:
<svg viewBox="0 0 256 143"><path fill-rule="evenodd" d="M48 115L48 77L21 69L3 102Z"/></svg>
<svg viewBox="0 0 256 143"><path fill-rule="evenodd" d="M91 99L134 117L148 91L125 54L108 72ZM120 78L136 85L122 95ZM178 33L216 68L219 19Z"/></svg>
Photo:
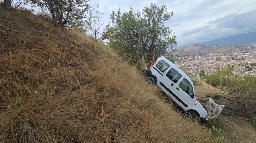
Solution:
<svg viewBox="0 0 256 143"><path fill-rule="evenodd" d="M212 45L212 44L207 44L207 45L187 45L183 47L178 47L177 50L174 52L176 55L184 55L188 54L191 51L196 51L196 52L209 52L209 53L238 53L240 50L238 48L235 48L233 46L219 46L219 45Z"/></svg>

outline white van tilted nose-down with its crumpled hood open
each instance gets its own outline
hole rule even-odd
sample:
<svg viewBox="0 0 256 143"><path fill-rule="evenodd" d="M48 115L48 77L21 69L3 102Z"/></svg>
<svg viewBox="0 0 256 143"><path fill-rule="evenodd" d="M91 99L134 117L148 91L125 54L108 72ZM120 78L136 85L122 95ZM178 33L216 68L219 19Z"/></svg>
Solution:
<svg viewBox="0 0 256 143"><path fill-rule="evenodd" d="M216 118L224 105L218 105L210 98L206 109L196 100L195 89L192 80L175 64L165 57L159 57L146 69L147 83L150 86L157 85L180 107L185 110L183 116L189 120L200 117L200 121ZM207 110L207 111L206 111Z"/></svg>

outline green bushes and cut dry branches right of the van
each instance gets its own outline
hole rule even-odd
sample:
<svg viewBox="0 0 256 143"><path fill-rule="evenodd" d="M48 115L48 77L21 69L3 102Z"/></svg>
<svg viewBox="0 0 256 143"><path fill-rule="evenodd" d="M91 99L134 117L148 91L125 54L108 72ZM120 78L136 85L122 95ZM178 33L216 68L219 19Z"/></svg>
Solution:
<svg viewBox="0 0 256 143"><path fill-rule="evenodd" d="M206 82L222 92L201 97L201 103L206 104L212 97L218 104L225 105L222 113L247 116L254 121L256 114L256 77L241 79L233 72L233 67L221 68L214 74L206 76Z"/></svg>

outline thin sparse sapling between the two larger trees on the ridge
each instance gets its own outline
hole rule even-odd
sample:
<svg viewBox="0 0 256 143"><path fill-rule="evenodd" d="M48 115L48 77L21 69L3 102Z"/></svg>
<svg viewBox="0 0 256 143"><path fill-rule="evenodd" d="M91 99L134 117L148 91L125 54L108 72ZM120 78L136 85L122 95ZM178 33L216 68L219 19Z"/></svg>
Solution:
<svg viewBox="0 0 256 143"><path fill-rule="evenodd" d="M87 16L87 20L85 20L85 27L88 27L88 29L93 33L94 38L94 44L96 42L96 39L101 35L99 30L104 23L101 23L101 17L104 13L100 13L99 5L96 9L92 9L92 11L89 12L89 16Z"/></svg>

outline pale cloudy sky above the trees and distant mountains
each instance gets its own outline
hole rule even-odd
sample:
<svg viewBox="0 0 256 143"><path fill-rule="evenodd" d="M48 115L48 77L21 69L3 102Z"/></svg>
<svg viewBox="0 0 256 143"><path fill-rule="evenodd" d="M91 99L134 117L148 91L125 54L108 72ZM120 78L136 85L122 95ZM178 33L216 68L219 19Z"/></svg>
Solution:
<svg viewBox="0 0 256 143"><path fill-rule="evenodd" d="M130 5L142 12L145 5L165 4L174 14L166 25L177 36L178 46L208 41L256 30L256 0L91 0L100 6L102 21L111 22L110 13L129 11Z"/></svg>

